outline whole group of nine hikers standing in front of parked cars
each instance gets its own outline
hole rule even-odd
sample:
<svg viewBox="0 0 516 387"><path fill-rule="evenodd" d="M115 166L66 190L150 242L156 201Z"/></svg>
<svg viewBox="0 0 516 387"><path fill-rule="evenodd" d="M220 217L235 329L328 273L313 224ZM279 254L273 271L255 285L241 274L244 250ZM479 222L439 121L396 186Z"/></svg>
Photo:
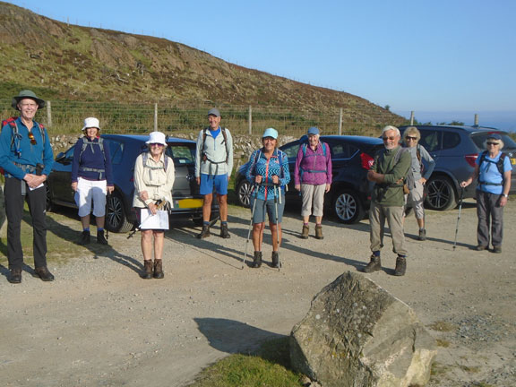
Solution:
<svg viewBox="0 0 516 387"><path fill-rule="evenodd" d="M3 121L0 135L0 168L3 168L5 176L8 280L11 283L22 282L21 225L23 205L27 202L32 218L34 272L41 280L51 281L54 275L47 268L45 181L52 171L54 154L47 129L34 119L38 110L45 107L45 100L39 99L31 90L22 90L13 97L12 107L20 115ZM211 108L207 118L209 125L200 131L195 150L195 178L203 195L203 224L197 237L202 239L211 236L211 203L213 194L216 194L220 236L229 238L228 181L233 169L233 139L229 130L220 126L219 109ZM115 189L109 149L104 147L100 137L98 118L86 118L82 133L73 152L70 182L82 223L79 244L87 245L91 242L90 214L93 213L97 226L96 241L100 245L107 245L104 233L106 196ZM309 219L314 216L314 236L323 239L324 195L330 191L332 183L331 149L327 143L320 141L319 128L310 127L306 134L307 142L299 147L294 169L295 188L303 202L300 237L308 238ZM270 265L280 268L281 221L286 186L291 176L288 157L278 148L278 135L274 128L265 129L262 147L251 154L245 173L245 178L253 186L250 202L253 268L262 266L265 213L268 215L272 239ZM382 269L380 252L387 221L393 252L397 254L394 275L405 274L408 252L403 223L408 205L414 209L417 219L418 239L426 240L423 207L425 184L432 175L435 163L425 148L418 144L420 137L417 128L410 126L403 133L403 142L407 146L402 147L400 130L391 125L383 128L383 150L374 155L374 163L367 173L367 179L372 185L369 210L372 255L363 269L365 272ZM165 229L144 228L142 225L143 219L155 216L159 211L167 211L172 202L175 168L174 161L166 155L167 139L164 133L150 133L146 143L148 151L138 156L134 166L133 209L141 225L141 276L143 279L162 279ZM487 249L491 242L494 252L501 253L503 207L511 187L512 166L509 158L503 157L503 142L499 134L489 134L485 145L486 151L477 158L472 175L461 182L460 186L465 187L477 180L477 250ZM502 169L491 168L492 164L500 164L501 158Z"/></svg>

